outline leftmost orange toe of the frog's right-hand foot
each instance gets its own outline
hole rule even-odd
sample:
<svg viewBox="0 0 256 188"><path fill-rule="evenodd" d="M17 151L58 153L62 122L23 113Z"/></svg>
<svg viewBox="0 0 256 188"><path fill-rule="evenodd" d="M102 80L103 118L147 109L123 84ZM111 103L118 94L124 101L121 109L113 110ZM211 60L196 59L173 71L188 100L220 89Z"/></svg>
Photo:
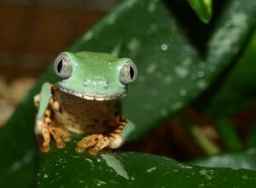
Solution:
<svg viewBox="0 0 256 188"><path fill-rule="evenodd" d="M103 135L102 134L92 134L90 136L84 137L83 140L80 140L77 143L76 151L77 152L84 152L84 150L90 146L96 145L99 140L102 140Z"/></svg>

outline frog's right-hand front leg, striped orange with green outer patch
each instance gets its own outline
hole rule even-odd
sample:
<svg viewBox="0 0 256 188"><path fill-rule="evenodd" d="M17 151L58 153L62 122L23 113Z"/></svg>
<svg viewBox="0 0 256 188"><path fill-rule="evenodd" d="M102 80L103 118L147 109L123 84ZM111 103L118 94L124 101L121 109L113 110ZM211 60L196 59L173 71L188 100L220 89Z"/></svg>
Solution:
<svg viewBox="0 0 256 188"><path fill-rule="evenodd" d="M124 144L125 140L131 135L134 129L134 124L124 120L119 123L119 126L113 130L110 134L92 134L84 137L77 143L76 151L83 152L86 148L94 146L90 149L91 155L96 155L105 147L111 149L119 148Z"/></svg>

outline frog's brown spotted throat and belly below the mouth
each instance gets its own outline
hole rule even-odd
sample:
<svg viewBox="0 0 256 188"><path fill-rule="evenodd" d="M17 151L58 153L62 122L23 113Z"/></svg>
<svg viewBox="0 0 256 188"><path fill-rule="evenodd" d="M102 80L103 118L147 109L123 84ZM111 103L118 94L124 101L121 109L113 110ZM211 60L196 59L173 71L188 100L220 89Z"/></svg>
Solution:
<svg viewBox="0 0 256 188"><path fill-rule="evenodd" d="M108 134L122 121L119 100L84 100L61 90L54 98L60 103L56 122L73 133Z"/></svg>

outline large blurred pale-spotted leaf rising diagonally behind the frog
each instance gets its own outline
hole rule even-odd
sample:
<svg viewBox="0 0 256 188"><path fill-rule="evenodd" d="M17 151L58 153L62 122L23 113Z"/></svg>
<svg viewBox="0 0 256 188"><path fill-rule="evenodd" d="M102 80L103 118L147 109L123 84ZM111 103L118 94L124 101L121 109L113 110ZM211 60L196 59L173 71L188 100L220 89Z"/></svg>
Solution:
<svg viewBox="0 0 256 188"><path fill-rule="evenodd" d="M165 2L129 0L69 50L111 52L120 45L119 56L134 60L139 76L131 84L123 105L125 117L137 125L131 140L137 140L195 100L230 65L253 29L255 7L254 0L230 0L211 27L202 29L195 23L191 28L183 28L181 25L189 25L190 20L186 17L181 23ZM178 13L183 16L182 9ZM209 28L213 28L211 35L202 40L201 33ZM197 35L189 38L185 31ZM199 50L197 43L205 48ZM44 82L55 81L51 67L0 131L0 184L34 184L37 141L33 133L36 109L32 97ZM50 157L50 153L46 156ZM15 164L19 168L10 171ZM40 168L44 166L41 162Z"/></svg>

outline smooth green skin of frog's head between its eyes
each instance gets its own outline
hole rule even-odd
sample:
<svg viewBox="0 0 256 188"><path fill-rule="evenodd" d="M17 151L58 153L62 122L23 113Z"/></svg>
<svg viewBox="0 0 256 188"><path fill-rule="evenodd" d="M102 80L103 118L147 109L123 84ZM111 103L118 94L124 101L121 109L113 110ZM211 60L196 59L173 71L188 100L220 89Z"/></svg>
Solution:
<svg viewBox="0 0 256 188"><path fill-rule="evenodd" d="M73 74L57 83L62 89L84 94L87 100L118 99L126 94L127 87L119 82L119 71L128 58L118 59L111 54L65 52L73 62ZM84 86L84 81L88 86ZM108 83L108 88L105 84Z"/></svg>

